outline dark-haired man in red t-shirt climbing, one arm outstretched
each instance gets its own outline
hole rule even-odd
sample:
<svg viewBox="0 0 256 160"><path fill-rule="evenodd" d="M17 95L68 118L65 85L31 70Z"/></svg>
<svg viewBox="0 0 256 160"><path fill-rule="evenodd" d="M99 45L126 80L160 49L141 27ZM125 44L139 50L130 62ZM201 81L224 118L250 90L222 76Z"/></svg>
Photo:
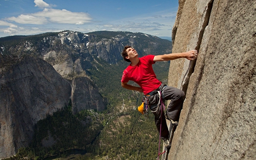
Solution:
<svg viewBox="0 0 256 160"><path fill-rule="evenodd" d="M156 128L158 132L160 132L162 120L161 138L164 140L165 146L170 148L171 144L168 140L169 131L165 118L170 120L172 125L178 125L180 111L183 106L183 101L185 100L185 93L177 88L162 84L162 82L156 78L152 64L156 63L156 61L169 61L179 58L194 60L197 58L197 51L191 50L183 53L170 53L156 56L147 55L138 58L138 53L131 46L125 46L122 56L125 61L131 62L131 64L123 72L121 80L122 87L129 90L143 92L144 95L150 95L148 105L150 105L149 108L155 115ZM139 84L140 87L127 84L129 80ZM156 91L161 91L164 100L171 100L169 106L167 107L165 118L161 116L162 113L164 113L162 109L160 110L157 107L159 97L158 94L156 94Z"/></svg>

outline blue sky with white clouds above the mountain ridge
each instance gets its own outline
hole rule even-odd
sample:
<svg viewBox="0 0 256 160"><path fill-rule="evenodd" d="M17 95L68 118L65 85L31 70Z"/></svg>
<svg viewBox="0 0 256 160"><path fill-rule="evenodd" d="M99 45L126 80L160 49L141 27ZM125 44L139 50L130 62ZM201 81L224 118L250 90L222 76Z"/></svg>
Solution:
<svg viewBox="0 0 256 160"><path fill-rule="evenodd" d="M178 0L0 0L0 37L63 30L169 36Z"/></svg>

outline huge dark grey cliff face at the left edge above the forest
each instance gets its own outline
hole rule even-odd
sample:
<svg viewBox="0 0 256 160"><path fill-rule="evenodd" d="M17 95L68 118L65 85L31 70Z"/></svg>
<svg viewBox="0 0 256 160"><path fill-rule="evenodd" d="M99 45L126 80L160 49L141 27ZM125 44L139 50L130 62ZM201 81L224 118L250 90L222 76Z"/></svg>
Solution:
<svg viewBox="0 0 256 160"><path fill-rule="evenodd" d="M71 87L50 64L34 57L1 72L0 82L0 158L5 158L28 146L37 121L68 105Z"/></svg>

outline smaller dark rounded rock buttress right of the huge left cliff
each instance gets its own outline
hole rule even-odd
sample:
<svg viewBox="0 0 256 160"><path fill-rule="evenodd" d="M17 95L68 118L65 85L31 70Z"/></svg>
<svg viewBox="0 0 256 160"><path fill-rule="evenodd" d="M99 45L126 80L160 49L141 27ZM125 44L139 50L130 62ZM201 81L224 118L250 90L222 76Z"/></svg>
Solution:
<svg viewBox="0 0 256 160"><path fill-rule="evenodd" d="M98 88L86 77L75 78L72 81L71 101L73 114L84 109L103 111L107 105Z"/></svg>

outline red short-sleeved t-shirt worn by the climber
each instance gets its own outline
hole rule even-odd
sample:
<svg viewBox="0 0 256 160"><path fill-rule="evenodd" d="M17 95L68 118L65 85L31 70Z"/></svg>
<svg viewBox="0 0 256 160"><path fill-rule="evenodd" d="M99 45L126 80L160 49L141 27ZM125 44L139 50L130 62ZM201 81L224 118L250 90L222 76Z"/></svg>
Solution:
<svg viewBox="0 0 256 160"><path fill-rule="evenodd" d="M152 64L155 63L154 57L154 55L147 55L139 58L140 61L136 66L130 64L124 69L121 82L125 83L129 80L136 82L144 94L156 90L162 82L156 79L156 74L152 68Z"/></svg>

